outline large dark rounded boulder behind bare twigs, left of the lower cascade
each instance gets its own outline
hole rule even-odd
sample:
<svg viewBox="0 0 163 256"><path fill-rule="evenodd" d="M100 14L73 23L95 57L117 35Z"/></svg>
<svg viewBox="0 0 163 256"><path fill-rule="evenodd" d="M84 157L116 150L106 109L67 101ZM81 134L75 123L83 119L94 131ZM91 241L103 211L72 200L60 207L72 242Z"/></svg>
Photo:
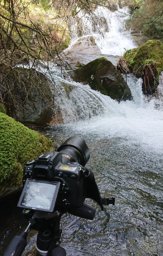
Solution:
<svg viewBox="0 0 163 256"><path fill-rule="evenodd" d="M15 67L2 70L1 93L7 114L27 124L46 126L58 120L57 106L51 92L51 81L33 68ZM54 87L54 86L53 86Z"/></svg>

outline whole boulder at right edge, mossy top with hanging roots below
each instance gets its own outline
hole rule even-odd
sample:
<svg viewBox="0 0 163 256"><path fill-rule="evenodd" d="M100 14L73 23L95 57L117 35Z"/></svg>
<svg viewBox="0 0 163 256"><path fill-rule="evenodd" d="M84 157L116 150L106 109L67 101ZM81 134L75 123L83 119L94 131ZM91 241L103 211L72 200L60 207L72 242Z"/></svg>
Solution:
<svg viewBox="0 0 163 256"><path fill-rule="evenodd" d="M147 95L155 93L159 84L159 75L163 70L161 41L149 40L138 48L127 50L123 57L130 72L137 78L142 77L143 93Z"/></svg>

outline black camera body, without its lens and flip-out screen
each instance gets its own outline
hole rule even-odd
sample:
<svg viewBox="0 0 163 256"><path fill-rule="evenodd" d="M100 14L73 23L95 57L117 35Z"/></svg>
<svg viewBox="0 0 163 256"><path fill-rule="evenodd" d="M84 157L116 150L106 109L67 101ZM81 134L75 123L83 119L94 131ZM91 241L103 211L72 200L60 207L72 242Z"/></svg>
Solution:
<svg viewBox="0 0 163 256"><path fill-rule="evenodd" d="M71 160L71 156L63 152L44 153L27 162L23 185L27 178L60 182L57 208L81 207L85 201L85 174L82 165Z"/></svg>

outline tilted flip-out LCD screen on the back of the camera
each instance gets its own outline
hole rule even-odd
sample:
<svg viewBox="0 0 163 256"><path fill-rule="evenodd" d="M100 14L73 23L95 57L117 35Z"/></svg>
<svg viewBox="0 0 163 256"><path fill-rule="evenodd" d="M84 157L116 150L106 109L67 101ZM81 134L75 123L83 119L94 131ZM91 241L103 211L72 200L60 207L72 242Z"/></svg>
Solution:
<svg viewBox="0 0 163 256"><path fill-rule="evenodd" d="M57 199L60 182L27 179L19 207L52 212Z"/></svg>

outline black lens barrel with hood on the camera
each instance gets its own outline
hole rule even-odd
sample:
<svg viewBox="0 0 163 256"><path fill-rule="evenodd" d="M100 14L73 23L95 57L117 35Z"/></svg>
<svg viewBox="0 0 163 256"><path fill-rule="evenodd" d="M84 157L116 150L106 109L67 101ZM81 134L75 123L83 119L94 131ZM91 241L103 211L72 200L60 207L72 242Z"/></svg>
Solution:
<svg viewBox="0 0 163 256"><path fill-rule="evenodd" d="M70 162L80 163L85 166L90 157L90 151L86 142L81 137L71 137L67 139L57 150L71 157Z"/></svg>

